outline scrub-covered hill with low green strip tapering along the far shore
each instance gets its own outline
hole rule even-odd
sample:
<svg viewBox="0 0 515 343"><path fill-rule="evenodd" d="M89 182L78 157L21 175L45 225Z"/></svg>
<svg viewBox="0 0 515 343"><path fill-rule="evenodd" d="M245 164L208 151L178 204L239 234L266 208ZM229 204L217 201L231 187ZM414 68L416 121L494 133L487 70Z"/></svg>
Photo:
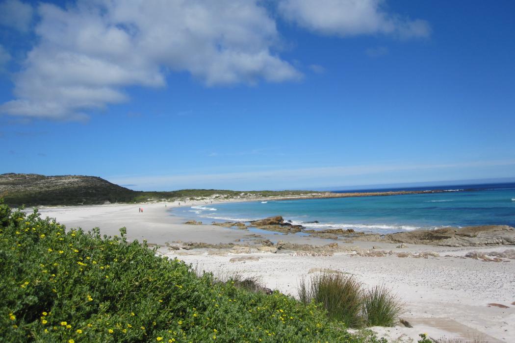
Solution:
<svg viewBox="0 0 515 343"><path fill-rule="evenodd" d="M243 195L242 195L243 193ZM147 201L202 200L213 197L228 200L236 197L289 196L311 191L232 191L183 189L169 192L133 191L96 176L45 176L39 174L0 175L0 196L9 205L78 205L141 203Z"/></svg>

